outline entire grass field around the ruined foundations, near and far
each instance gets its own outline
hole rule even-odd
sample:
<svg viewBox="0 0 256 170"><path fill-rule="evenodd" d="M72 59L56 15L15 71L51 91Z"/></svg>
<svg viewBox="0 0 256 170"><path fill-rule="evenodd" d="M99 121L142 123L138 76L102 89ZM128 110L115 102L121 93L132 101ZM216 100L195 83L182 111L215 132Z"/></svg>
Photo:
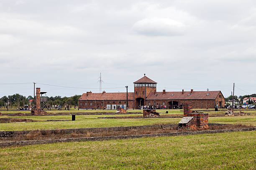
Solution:
<svg viewBox="0 0 256 170"><path fill-rule="evenodd" d="M105 110L75 110L76 112L106 112ZM110 110L109 110L110 111ZM129 110L130 111L130 110ZM141 110L133 110L135 112ZM166 110L157 110L165 112ZM180 110L168 114L182 115ZM6 111L1 110L3 115ZM16 113L10 110L8 113ZM27 111L25 111L27 112ZM29 112L29 111L28 111ZM51 110L56 112L56 110ZM61 110L57 112L74 112ZM111 110L113 112L113 110ZM223 114L224 111L207 111ZM256 126L256 111L250 116L209 117L210 123ZM178 123L181 118L99 119L97 117L130 115L77 115L76 121L0 123L0 130L41 130L93 128ZM0 118L33 120L71 120L71 115L1 116ZM254 170L256 167L256 132L233 132L174 137L140 138L92 142L54 143L0 148L0 170L33 169L224 169Z"/></svg>

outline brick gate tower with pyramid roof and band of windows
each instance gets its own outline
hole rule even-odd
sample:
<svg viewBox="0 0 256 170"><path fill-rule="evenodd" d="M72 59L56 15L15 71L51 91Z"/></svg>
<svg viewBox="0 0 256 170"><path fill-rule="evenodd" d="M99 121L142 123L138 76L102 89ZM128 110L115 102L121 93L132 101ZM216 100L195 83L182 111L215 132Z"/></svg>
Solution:
<svg viewBox="0 0 256 170"><path fill-rule="evenodd" d="M156 93L157 82L151 80L144 74L144 77L134 83L134 106L136 109L146 104L146 98L151 92ZM153 104L153 103L152 103Z"/></svg>

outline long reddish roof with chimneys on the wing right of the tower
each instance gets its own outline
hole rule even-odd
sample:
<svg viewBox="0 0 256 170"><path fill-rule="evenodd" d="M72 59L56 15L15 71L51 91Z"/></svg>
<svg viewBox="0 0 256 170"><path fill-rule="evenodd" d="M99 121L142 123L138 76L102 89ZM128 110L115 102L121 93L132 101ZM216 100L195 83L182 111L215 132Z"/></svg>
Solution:
<svg viewBox="0 0 256 170"><path fill-rule="evenodd" d="M184 92L151 92L147 100L215 100L218 97L220 91L190 91ZM189 95L190 94L190 95ZM207 95L208 94L208 95Z"/></svg>

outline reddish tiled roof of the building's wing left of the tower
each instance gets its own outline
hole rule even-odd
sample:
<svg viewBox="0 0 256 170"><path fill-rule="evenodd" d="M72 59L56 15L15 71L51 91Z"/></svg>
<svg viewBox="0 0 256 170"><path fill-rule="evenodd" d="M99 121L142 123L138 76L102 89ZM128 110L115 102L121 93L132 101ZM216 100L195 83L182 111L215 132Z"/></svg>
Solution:
<svg viewBox="0 0 256 170"><path fill-rule="evenodd" d="M134 99L134 92L128 92L128 100ZM79 100L126 100L126 92L83 93Z"/></svg>

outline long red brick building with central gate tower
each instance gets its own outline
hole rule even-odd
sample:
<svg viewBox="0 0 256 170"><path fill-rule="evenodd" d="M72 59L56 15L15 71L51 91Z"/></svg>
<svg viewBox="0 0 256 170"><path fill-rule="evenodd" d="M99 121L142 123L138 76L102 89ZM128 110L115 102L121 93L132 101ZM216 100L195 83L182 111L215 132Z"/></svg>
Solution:
<svg viewBox="0 0 256 170"><path fill-rule="evenodd" d="M223 108L225 98L221 91L184 91L156 92L157 82L150 78L142 77L133 82L134 92L128 92L128 109L138 109L141 105L161 106L167 109L183 107L184 103L190 103L193 108ZM126 92L87 92L79 98L79 108L87 109L126 109Z"/></svg>

